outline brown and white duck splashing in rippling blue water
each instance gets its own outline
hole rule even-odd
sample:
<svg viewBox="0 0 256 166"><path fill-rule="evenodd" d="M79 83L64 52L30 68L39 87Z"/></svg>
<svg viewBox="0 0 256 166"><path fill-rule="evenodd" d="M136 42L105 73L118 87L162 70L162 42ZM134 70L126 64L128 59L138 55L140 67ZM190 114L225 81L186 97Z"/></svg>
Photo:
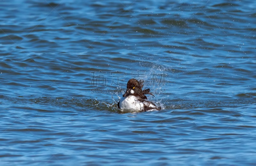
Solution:
<svg viewBox="0 0 256 166"><path fill-rule="evenodd" d="M127 89L123 97L117 103L117 106L120 109L120 111L146 112L153 110L161 110L161 107L157 107L153 102L148 101L146 95L153 95L150 92L150 89L144 89L142 91L142 87L142 80L138 81L132 78L127 82Z"/></svg>

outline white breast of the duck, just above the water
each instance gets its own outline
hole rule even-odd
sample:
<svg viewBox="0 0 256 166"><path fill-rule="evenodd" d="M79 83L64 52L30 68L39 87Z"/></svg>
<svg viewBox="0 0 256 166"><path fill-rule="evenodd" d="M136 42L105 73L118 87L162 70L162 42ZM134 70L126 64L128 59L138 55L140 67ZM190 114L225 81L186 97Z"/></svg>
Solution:
<svg viewBox="0 0 256 166"><path fill-rule="evenodd" d="M120 99L119 107L121 110L137 110L141 111L144 108L143 102L140 102L138 100L138 97L136 96L128 96L128 97L122 97Z"/></svg>

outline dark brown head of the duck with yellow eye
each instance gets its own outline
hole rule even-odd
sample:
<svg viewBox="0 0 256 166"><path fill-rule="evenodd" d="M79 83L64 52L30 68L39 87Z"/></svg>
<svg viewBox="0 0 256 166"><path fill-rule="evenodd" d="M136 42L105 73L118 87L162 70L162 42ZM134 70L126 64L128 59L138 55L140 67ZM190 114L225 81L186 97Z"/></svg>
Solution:
<svg viewBox="0 0 256 166"><path fill-rule="evenodd" d="M130 95L133 96L142 96L143 92L142 92L142 87L143 87L143 81L140 80L140 82L134 78L130 79L127 83L127 89L126 92L124 93L123 97L127 97Z"/></svg>

